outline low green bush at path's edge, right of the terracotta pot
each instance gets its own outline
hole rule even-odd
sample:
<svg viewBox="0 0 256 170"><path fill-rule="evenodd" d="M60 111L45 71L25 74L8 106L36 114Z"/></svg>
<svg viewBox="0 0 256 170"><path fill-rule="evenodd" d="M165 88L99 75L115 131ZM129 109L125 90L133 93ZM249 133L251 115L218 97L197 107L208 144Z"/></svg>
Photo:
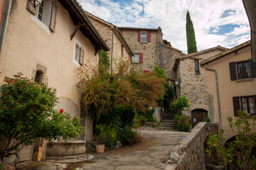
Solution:
<svg viewBox="0 0 256 170"><path fill-rule="evenodd" d="M123 146L142 141L141 132L128 126L119 130L119 140Z"/></svg>

